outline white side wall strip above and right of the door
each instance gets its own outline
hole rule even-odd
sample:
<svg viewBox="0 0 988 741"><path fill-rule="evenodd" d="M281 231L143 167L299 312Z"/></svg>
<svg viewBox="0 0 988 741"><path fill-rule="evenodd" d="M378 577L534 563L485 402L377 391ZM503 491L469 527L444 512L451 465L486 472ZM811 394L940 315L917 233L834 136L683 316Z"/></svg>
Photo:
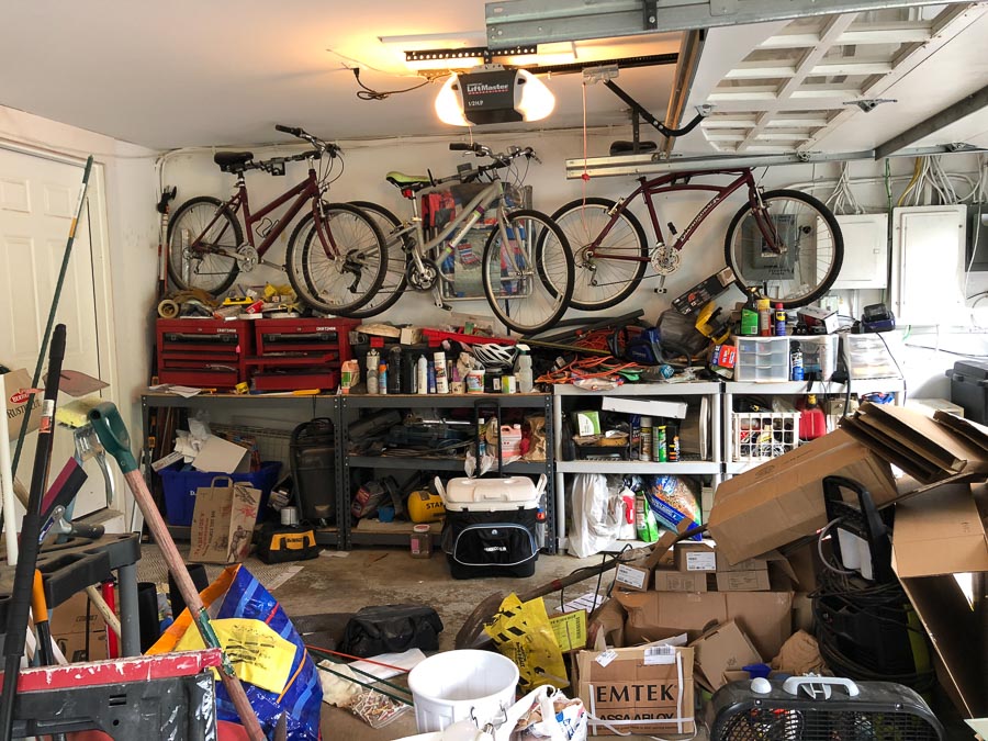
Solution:
<svg viewBox="0 0 988 741"><path fill-rule="evenodd" d="M139 446L139 394L150 364L150 300L157 256L156 153L109 136L0 106L0 138L26 149L85 159L102 169L110 243L112 316L121 414ZM68 236L68 235L66 235ZM5 311L0 296L0 311Z"/></svg>

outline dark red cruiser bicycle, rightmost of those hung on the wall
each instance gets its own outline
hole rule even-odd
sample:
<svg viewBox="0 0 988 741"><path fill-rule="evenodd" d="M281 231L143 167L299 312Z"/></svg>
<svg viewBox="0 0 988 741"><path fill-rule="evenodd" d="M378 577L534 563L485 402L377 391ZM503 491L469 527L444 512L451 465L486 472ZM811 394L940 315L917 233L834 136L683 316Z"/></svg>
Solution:
<svg viewBox="0 0 988 741"><path fill-rule="evenodd" d="M666 136L678 136L700 119L703 115L678 130L662 124L656 128ZM726 186L694 182L710 176L732 180ZM597 311L620 303L635 292L650 265L660 277L673 273L680 267L680 251L699 225L742 188L748 202L731 220L723 244L725 260L734 271L739 288L786 308L820 299L837 280L844 258L844 242L833 213L800 191L763 193L751 168L736 167L642 176L638 188L620 201L577 199L557 210L552 218L565 234L576 261L570 306ZM653 199L681 191L709 191L714 197L678 235L669 223L674 239L667 242ZM630 211L639 199L644 201L652 225L652 243Z"/></svg>

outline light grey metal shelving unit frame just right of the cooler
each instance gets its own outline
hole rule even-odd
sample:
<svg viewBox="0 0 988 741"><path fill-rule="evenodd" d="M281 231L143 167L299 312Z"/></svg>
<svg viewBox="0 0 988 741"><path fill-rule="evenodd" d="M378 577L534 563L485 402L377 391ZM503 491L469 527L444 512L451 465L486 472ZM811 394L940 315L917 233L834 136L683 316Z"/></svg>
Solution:
<svg viewBox="0 0 988 741"><path fill-rule="evenodd" d="M599 460L560 460L560 450L555 449L555 521L559 548L566 547L566 487L565 478L574 473L639 473L639 474L683 474L710 476L716 487L723 475L723 436L721 424L722 389L719 381L698 381L689 383L635 383L625 384L608 391L583 391L572 385L557 385L552 396L552 426L559 433L562 429L563 405L568 398L594 398L602 396L620 396L629 398L663 398L670 396L703 396L708 400L709 439L707 460L682 460L675 463L653 463L649 461L599 461ZM559 436L557 436L559 446Z"/></svg>

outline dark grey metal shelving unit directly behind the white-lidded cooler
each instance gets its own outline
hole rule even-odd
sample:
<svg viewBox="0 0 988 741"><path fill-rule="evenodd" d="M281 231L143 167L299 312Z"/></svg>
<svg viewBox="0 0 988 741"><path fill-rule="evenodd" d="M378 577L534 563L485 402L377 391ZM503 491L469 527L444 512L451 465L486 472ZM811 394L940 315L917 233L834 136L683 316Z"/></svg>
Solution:
<svg viewBox="0 0 988 741"><path fill-rule="evenodd" d="M504 467L504 473L538 475L544 473L549 479L546 491L546 528L551 534L557 528L555 515L555 495L554 495L554 476L553 476L553 451L555 442L553 439L552 420L552 395L551 394L384 394L367 396L362 394L348 394L340 396L340 430L341 444L338 446L343 451L340 461L340 491L344 499L347 501L344 514L349 512L349 497L352 495L352 471L355 469L374 469L380 471L388 470L417 470L417 471L444 471L460 472L463 474L462 458L428 458L428 457L409 457L409 456L348 456L347 425L356 419L362 409L457 409L457 408L475 408L481 405L484 411L499 406L501 408L530 408L535 412L541 412L546 415L546 450L547 460L544 462L527 462L516 461L507 463ZM397 546L408 542L408 536L412 534L411 523L390 524L390 527L353 527L347 520L344 528L344 548L350 546ZM434 528L434 537L438 536L438 531ZM557 551L555 539L547 538L544 552L554 553Z"/></svg>

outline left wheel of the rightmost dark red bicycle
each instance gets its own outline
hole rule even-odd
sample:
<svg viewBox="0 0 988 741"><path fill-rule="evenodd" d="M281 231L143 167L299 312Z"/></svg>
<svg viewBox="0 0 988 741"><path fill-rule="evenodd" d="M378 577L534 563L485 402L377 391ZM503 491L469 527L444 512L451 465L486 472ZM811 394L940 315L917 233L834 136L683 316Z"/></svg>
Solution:
<svg viewBox="0 0 988 741"><path fill-rule="evenodd" d="M604 232L615 207L617 203L604 198L576 199L552 214L576 262L570 300L573 308L610 308L630 296L644 276L649 245L644 229L630 211L620 212L593 256L588 254L590 245Z"/></svg>

